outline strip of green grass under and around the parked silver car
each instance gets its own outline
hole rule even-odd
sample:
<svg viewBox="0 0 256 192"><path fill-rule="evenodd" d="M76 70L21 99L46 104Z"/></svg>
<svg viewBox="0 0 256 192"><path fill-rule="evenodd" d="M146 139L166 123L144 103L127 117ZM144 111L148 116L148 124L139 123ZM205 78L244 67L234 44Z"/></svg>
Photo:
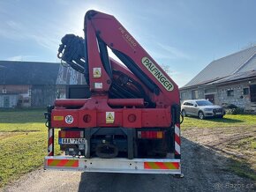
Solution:
<svg viewBox="0 0 256 192"><path fill-rule="evenodd" d="M256 126L256 115L253 114L226 114L223 118L200 120L196 117L184 117L182 129L192 128L224 128Z"/></svg>

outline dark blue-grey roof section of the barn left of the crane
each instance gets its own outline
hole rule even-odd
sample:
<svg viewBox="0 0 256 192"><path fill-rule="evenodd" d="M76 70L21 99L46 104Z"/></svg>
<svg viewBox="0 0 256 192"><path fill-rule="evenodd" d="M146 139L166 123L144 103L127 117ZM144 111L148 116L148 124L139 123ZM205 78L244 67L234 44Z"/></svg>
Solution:
<svg viewBox="0 0 256 192"><path fill-rule="evenodd" d="M0 61L0 84L56 85L59 63Z"/></svg>

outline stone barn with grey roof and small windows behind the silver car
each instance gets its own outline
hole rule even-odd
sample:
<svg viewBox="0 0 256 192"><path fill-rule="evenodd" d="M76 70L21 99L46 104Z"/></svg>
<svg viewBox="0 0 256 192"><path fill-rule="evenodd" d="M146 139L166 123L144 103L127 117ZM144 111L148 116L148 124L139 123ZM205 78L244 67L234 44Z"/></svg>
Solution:
<svg viewBox="0 0 256 192"><path fill-rule="evenodd" d="M207 99L256 110L256 46L209 63L180 88L181 100Z"/></svg>

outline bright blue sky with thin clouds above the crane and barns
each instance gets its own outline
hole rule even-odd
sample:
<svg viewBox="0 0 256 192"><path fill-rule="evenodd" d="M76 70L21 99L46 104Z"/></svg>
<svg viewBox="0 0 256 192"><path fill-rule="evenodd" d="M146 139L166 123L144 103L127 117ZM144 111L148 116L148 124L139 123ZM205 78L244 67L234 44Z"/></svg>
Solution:
<svg viewBox="0 0 256 192"><path fill-rule="evenodd" d="M61 38L83 37L88 10L114 15L179 86L256 44L254 0L0 0L0 60L60 62Z"/></svg>

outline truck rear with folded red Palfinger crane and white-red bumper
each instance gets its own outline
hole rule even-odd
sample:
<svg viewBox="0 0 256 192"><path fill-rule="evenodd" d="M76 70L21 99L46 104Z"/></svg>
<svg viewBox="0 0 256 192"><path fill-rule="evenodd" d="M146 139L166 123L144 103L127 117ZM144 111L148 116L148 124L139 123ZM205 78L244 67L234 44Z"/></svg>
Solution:
<svg viewBox="0 0 256 192"><path fill-rule="evenodd" d="M85 75L90 97L48 107L45 169L181 174L177 85L113 16L87 11L84 31L65 35L58 57Z"/></svg>

